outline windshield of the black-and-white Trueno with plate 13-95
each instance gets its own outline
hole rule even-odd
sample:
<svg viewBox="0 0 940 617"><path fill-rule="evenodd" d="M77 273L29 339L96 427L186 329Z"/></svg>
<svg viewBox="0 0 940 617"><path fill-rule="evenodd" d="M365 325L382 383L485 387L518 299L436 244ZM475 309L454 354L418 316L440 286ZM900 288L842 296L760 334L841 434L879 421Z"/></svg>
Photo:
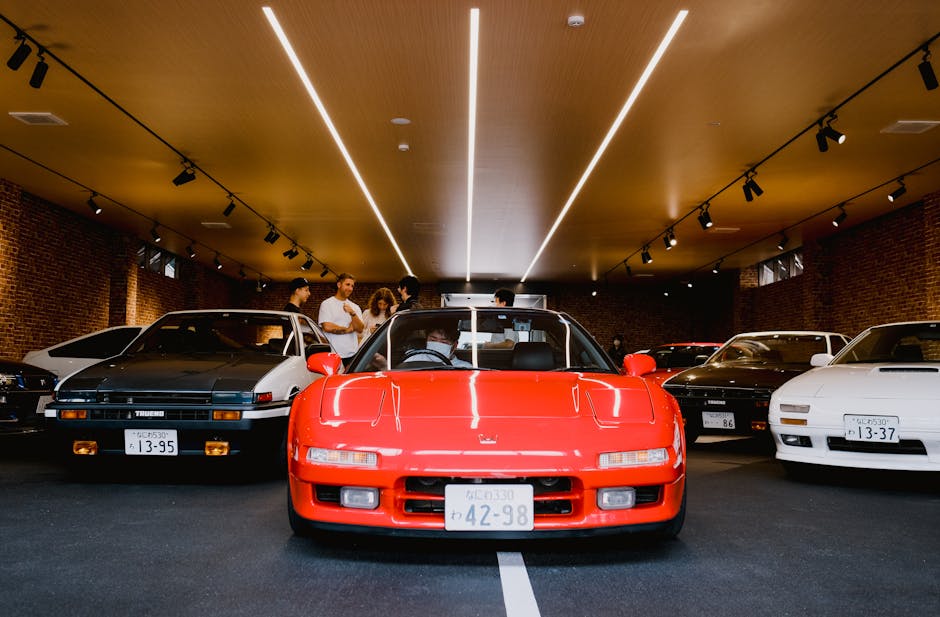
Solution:
<svg viewBox="0 0 940 617"><path fill-rule="evenodd" d="M287 316L251 313L177 313L147 329L128 353L293 353Z"/></svg>

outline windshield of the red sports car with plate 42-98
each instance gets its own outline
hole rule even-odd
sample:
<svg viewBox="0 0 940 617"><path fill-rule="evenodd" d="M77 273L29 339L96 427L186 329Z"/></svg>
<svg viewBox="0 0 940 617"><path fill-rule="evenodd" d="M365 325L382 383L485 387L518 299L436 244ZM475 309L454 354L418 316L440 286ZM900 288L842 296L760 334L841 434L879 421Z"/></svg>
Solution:
<svg viewBox="0 0 940 617"><path fill-rule="evenodd" d="M618 372L567 315L521 308L396 314L366 340L347 372L441 369Z"/></svg>

